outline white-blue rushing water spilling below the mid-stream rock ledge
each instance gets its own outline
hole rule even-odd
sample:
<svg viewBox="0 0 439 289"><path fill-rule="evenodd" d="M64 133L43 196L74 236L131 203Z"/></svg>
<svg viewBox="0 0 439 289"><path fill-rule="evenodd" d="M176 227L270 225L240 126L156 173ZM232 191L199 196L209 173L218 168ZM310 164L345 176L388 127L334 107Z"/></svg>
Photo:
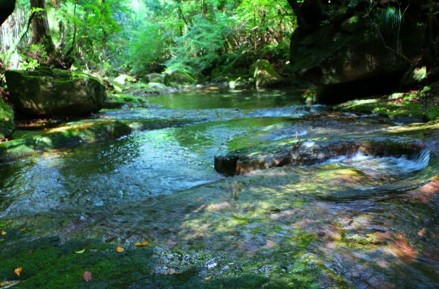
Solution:
<svg viewBox="0 0 439 289"><path fill-rule="evenodd" d="M379 157L357 152L351 156L340 156L325 161L327 163L339 163L358 169L377 170L392 174L408 174L423 170L429 164L430 150L423 150L412 157Z"/></svg>

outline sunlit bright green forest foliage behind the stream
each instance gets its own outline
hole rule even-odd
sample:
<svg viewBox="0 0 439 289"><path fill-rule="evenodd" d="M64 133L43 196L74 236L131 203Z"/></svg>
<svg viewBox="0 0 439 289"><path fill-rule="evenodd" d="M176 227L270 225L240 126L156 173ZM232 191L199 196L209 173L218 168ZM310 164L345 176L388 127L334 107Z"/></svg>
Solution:
<svg viewBox="0 0 439 289"><path fill-rule="evenodd" d="M285 0L19 0L1 26L0 65L219 76L268 58L287 62L294 16ZM32 5L32 8L31 8ZM47 12L47 38L29 21ZM29 27L31 26L31 27ZM246 73L244 73L246 74Z"/></svg>

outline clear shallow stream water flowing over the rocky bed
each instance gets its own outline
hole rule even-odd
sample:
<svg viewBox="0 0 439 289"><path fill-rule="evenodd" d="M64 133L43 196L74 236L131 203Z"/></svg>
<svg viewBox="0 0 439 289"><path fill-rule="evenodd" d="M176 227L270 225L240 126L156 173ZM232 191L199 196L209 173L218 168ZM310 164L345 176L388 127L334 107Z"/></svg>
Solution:
<svg viewBox="0 0 439 289"><path fill-rule="evenodd" d="M233 178L215 172L215 154L237 148L384 137L395 126L307 106L299 95L209 89L106 111L99 117L194 122L0 165L0 220L33 228L34 238L150 240L158 274L195 264L203 277L439 286L439 165L429 148Z"/></svg>

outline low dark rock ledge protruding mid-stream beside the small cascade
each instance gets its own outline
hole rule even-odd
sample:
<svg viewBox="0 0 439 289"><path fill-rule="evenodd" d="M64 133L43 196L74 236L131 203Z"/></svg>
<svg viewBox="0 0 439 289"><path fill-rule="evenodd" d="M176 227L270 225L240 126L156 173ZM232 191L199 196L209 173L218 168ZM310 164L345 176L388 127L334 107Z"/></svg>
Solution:
<svg viewBox="0 0 439 289"><path fill-rule="evenodd" d="M416 141L289 141L268 146L251 146L217 155L215 170L233 176L284 165L314 165L356 152L377 156L412 156L419 154L423 148L423 143Z"/></svg>

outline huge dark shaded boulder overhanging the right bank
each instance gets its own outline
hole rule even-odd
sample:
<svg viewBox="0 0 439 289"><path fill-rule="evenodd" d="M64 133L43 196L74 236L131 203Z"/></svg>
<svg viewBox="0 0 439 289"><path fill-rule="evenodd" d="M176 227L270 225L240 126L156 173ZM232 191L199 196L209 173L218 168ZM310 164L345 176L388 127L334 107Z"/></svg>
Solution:
<svg viewBox="0 0 439 289"><path fill-rule="evenodd" d="M346 14L311 33L298 30L292 35L292 72L320 86L320 102L388 93L399 86L410 60L421 53L424 28L410 15L401 27L383 27L383 14L384 9L369 17Z"/></svg>

